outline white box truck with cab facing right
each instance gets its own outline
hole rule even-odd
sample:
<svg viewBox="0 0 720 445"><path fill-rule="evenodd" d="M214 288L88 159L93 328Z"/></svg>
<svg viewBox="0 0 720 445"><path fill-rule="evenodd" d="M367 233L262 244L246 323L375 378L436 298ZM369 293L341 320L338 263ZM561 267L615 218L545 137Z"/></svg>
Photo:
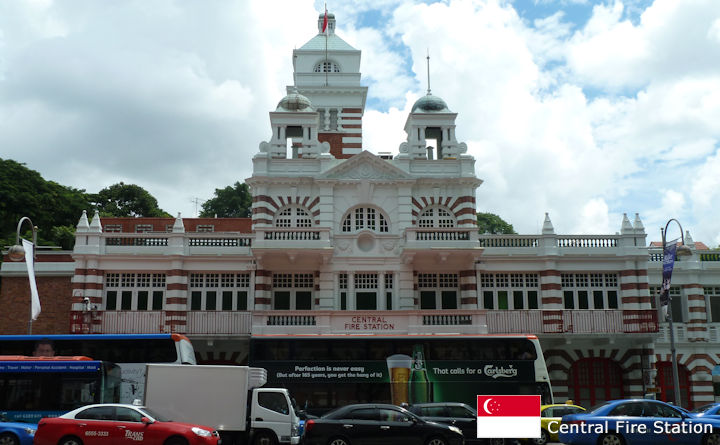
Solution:
<svg viewBox="0 0 720 445"><path fill-rule="evenodd" d="M266 382L263 368L148 364L144 404L170 420L215 427L223 445L300 443L290 393Z"/></svg>

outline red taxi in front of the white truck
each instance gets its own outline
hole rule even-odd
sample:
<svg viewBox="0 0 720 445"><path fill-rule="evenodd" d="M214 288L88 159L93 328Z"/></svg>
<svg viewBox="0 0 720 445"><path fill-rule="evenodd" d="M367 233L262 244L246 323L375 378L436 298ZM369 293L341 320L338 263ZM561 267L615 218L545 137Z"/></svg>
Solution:
<svg viewBox="0 0 720 445"><path fill-rule="evenodd" d="M218 445L213 428L172 422L141 406L105 403L38 423L34 445Z"/></svg>

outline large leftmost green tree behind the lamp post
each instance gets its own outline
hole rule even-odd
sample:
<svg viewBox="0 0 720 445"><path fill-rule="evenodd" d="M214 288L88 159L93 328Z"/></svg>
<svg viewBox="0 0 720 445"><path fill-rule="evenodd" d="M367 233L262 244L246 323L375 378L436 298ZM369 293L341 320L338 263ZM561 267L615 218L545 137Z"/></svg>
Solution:
<svg viewBox="0 0 720 445"><path fill-rule="evenodd" d="M0 243L15 244L17 224L27 216L38 227L38 244L71 249L82 211L92 207L85 190L46 181L35 170L10 159L0 159ZM61 230L65 228L66 230ZM23 236L32 239L28 224ZM71 239L72 238L72 239Z"/></svg>

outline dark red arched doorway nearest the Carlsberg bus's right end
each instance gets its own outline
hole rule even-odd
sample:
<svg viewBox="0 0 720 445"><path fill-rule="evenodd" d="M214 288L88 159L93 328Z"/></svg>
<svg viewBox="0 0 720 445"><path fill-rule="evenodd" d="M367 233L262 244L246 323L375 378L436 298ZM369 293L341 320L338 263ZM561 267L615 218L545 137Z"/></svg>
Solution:
<svg viewBox="0 0 720 445"><path fill-rule="evenodd" d="M622 369L609 358L591 357L573 363L570 384L573 401L580 406L624 397Z"/></svg>

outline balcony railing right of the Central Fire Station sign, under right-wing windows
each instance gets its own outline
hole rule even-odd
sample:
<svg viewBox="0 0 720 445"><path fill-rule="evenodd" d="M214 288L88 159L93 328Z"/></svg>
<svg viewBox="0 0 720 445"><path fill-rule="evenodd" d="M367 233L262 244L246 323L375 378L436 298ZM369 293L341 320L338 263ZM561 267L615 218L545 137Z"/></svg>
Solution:
<svg viewBox="0 0 720 445"><path fill-rule="evenodd" d="M654 310L512 310L488 311L491 334L606 334L658 331Z"/></svg>

